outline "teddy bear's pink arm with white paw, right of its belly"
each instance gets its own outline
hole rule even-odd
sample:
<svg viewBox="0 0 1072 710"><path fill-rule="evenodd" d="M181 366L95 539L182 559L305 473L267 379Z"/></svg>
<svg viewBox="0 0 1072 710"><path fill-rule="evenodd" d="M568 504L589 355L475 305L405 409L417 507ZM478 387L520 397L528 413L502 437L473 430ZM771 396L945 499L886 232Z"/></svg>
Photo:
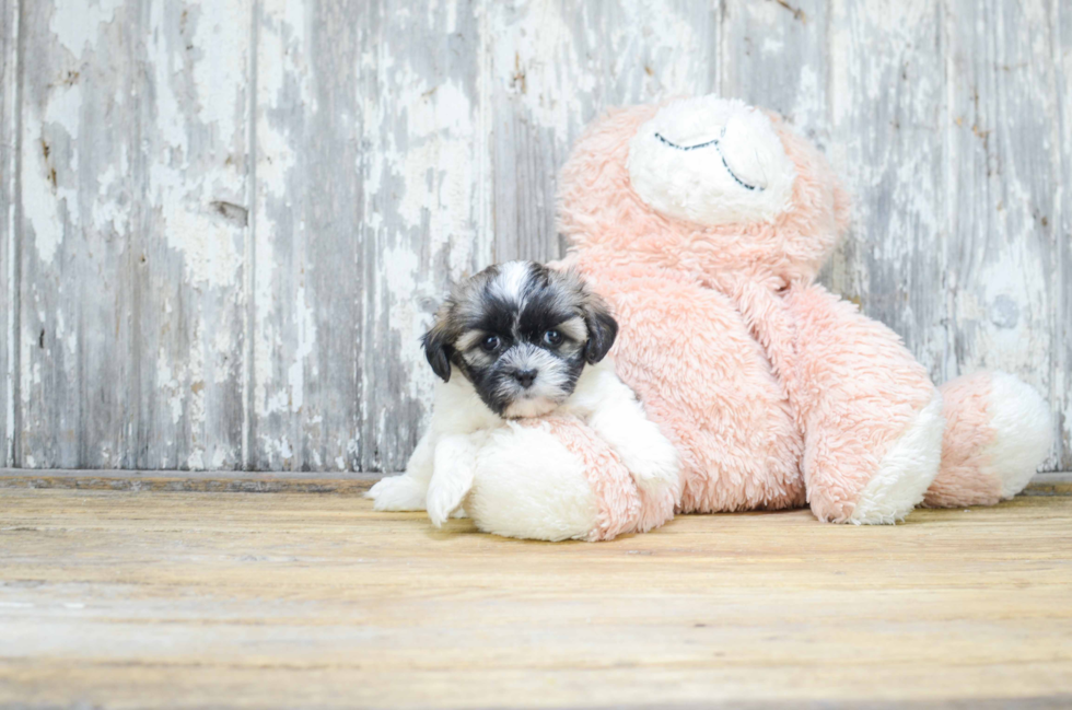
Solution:
<svg viewBox="0 0 1072 710"><path fill-rule="evenodd" d="M937 475L941 395L900 339L852 304L817 286L786 303L812 511L837 523L904 519Z"/></svg>

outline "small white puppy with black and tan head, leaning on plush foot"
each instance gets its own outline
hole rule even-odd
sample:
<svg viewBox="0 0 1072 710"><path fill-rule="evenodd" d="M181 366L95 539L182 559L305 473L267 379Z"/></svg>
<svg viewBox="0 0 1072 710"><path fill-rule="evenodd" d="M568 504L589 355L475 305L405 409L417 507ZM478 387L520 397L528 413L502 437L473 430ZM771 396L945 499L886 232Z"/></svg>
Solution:
<svg viewBox="0 0 1072 710"><path fill-rule="evenodd" d="M618 324L579 273L533 261L458 283L422 338L442 380L429 430L406 473L369 491L381 511L463 514L488 433L550 412L582 419L640 487L678 486L677 454L606 360ZM538 455L538 452L534 452Z"/></svg>

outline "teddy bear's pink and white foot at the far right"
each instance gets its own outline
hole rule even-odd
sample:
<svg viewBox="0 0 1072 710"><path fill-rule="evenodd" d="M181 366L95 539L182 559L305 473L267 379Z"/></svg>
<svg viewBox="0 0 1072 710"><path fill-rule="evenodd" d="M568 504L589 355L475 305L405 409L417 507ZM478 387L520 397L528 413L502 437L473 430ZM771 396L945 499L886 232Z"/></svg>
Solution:
<svg viewBox="0 0 1072 710"><path fill-rule="evenodd" d="M942 465L923 504L992 505L1022 491L1049 452L1053 429L1046 400L1004 372L958 377L941 392Z"/></svg>

